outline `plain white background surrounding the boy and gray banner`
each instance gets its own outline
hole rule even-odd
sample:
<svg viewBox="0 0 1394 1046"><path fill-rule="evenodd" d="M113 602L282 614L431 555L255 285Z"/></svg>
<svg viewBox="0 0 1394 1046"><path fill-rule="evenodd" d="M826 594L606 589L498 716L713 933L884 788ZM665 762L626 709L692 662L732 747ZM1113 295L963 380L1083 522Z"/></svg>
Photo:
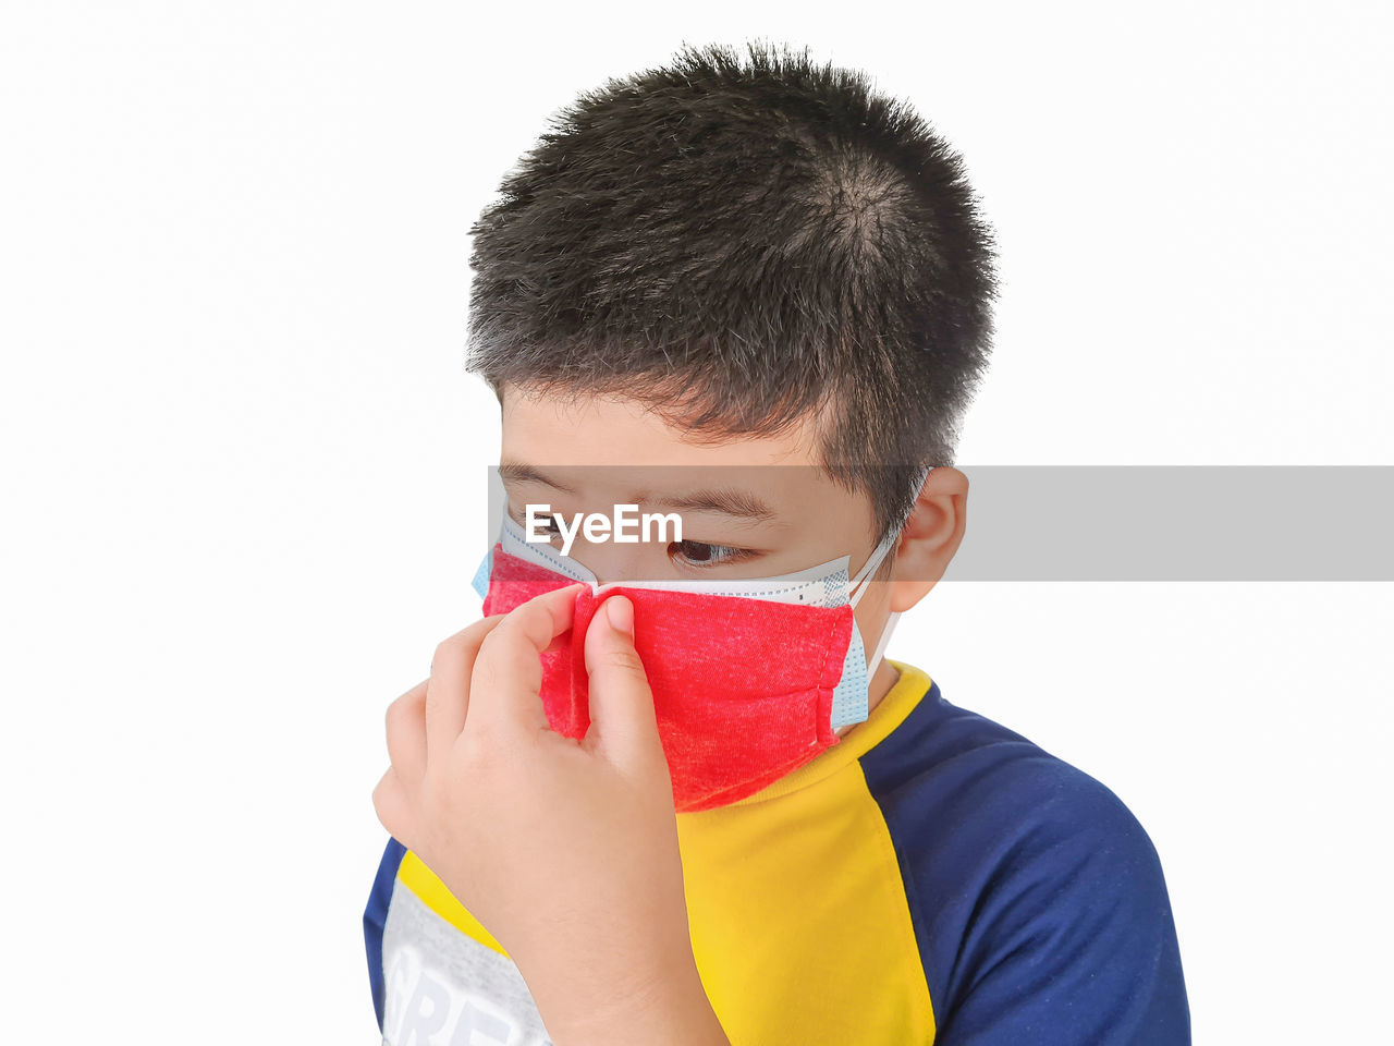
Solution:
<svg viewBox="0 0 1394 1046"><path fill-rule="evenodd" d="M552 110L756 36L916 105L1001 247L966 466L1390 464L1388 10L7 4L7 1035L376 1042L382 711L498 449L466 229ZM1139 816L1197 1043L1373 1042L1391 609L963 583L891 654Z"/></svg>

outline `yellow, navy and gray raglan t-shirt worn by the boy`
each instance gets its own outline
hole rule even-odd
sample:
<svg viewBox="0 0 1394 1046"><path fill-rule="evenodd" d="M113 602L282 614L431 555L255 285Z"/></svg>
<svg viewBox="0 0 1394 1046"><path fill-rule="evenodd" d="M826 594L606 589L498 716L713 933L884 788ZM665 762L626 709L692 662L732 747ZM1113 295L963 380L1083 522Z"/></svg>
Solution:
<svg viewBox="0 0 1394 1046"><path fill-rule="evenodd" d="M1101 784L920 669L746 799L677 814L732 1046L1185 1046L1161 866ZM364 914L383 1043L548 1043L507 953L396 840Z"/></svg>

